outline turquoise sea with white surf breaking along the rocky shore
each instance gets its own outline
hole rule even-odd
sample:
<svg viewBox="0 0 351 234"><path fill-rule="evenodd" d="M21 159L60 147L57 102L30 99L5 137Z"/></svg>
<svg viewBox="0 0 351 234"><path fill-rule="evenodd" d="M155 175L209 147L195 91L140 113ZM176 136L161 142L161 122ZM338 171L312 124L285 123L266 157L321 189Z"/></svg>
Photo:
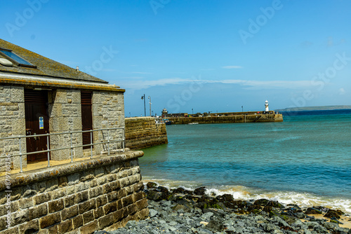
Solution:
<svg viewBox="0 0 351 234"><path fill-rule="evenodd" d="M168 144L143 149L144 181L351 214L351 110L284 114L283 123L168 125L167 134Z"/></svg>

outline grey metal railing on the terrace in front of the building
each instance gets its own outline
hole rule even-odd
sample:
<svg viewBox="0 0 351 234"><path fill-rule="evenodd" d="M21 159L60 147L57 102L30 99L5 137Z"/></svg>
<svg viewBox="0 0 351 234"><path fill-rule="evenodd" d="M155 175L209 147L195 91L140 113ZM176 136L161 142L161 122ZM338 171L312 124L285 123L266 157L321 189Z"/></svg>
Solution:
<svg viewBox="0 0 351 234"><path fill-rule="evenodd" d="M107 130L107 140L104 139L98 143L93 143L93 132L97 131L106 131ZM116 130L117 135L118 130L122 130L122 139L112 139L110 140L110 130ZM73 134L74 133L83 133L83 132L90 132L90 139L91 139L91 144L79 144L79 145L74 145L73 144ZM102 137L103 137L103 132L102 132ZM53 135L70 135L70 146L67 147L62 147L58 149L50 149L50 136ZM120 136L120 135L119 135ZM29 152L29 153L22 153L22 139L27 139L29 137L46 137L47 141L47 147L48 149L45 151L34 151L34 152ZM96 144L107 144L107 155L110 156L110 144L115 143L115 142L122 142L122 149L124 152L125 149L125 142L126 142L126 137L125 137L125 131L124 128L100 128L100 129L94 129L94 130L85 130L85 131L69 131L69 132L58 132L58 133L46 133L46 134L41 134L41 135L29 135L29 136L18 136L18 137L3 137L0 138L0 140L6 140L6 139L19 139L19 146L20 146L20 153L17 154L12 154L11 157L15 156L20 156L20 172L22 173L22 156L23 155L30 155L30 154L35 154L35 153L48 153L48 167L50 167L50 152L52 151L60 151L60 150L65 150L65 149L71 149L70 155L71 155L71 163L73 163L73 149L78 148L78 147L83 147L83 146L90 146L91 149L91 158L93 158L93 146ZM103 147L103 146L102 146ZM0 157L0 158L6 158L6 157Z"/></svg>

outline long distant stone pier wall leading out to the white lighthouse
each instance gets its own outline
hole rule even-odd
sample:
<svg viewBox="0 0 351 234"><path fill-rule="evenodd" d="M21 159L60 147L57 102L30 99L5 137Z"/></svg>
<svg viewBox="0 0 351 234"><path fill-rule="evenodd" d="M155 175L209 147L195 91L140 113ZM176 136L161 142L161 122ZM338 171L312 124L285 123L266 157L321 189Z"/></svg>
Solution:
<svg viewBox="0 0 351 234"><path fill-rule="evenodd" d="M180 117L168 118L172 124L188 123L263 123L283 122L282 114L249 114L237 116L205 116L205 117Z"/></svg>

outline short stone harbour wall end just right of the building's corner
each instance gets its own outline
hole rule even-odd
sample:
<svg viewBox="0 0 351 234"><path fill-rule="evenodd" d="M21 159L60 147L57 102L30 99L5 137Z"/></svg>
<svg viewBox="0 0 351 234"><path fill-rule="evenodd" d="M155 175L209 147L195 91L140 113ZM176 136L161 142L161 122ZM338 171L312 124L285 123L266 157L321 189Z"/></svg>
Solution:
<svg viewBox="0 0 351 234"><path fill-rule="evenodd" d="M155 123L154 117L125 118L126 147L143 149L167 144L167 131L164 123Z"/></svg>

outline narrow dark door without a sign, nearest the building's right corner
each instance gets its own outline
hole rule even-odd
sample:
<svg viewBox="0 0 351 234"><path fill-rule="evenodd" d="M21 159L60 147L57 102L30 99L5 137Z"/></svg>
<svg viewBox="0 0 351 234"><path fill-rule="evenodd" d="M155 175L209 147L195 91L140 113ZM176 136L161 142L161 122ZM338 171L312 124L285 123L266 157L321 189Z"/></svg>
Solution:
<svg viewBox="0 0 351 234"><path fill-rule="evenodd" d="M92 92L81 91L81 130L93 129L93 114L91 113ZM83 132L83 144L91 144L91 133ZM83 146L90 149L90 146Z"/></svg>

